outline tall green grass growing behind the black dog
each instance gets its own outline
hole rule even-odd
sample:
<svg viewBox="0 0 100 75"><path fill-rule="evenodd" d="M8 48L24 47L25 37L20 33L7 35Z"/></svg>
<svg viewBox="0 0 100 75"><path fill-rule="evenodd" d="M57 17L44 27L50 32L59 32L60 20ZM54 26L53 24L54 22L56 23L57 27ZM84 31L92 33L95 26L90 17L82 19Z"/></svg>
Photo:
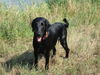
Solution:
<svg viewBox="0 0 100 75"><path fill-rule="evenodd" d="M59 2L60 1L58 1L58 3ZM48 5L45 3L41 4L39 7L35 5L30 7L27 6L24 11L20 11L17 7L7 9L1 5L0 37L12 39L32 36L29 28L30 18L33 19L37 16L46 17L51 22L55 22L55 20L61 21L62 18L67 17L68 19L73 20L72 22L74 22L74 24L72 24L72 22L70 23L72 25L89 25L90 23L98 23L99 6L97 4L93 4L90 0L87 2L81 0L79 0L79 2L77 0L68 0L66 2L67 5L59 6L57 1L54 1L53 3L55 4L52 5L52 9L49 9Z"/></svg>

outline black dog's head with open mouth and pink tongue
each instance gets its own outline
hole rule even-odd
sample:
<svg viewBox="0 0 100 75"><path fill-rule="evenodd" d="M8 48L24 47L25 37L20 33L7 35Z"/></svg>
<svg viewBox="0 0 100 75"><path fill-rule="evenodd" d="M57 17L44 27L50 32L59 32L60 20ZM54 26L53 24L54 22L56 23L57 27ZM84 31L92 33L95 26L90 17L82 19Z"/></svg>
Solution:
<svg viewBox="0 0 100 75"><path fill-rule="evenodd" d="M37 41L41 42L42 39L46 36L50 24L47 19L43 17L37 17L32 21L31 26Z"/></svg>

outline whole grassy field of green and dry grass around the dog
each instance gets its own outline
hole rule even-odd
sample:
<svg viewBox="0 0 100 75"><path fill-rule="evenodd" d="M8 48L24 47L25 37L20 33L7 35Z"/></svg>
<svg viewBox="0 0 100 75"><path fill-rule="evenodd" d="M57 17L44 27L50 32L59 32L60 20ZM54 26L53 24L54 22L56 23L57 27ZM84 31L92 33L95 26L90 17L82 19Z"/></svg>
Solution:
<svg viewBox="0 0 100 75"><path fill-rule="evenodd" d="M69 58L62 58L65 52L58 42L48 71L44 70L44 58L39 60L38 71L34 67L29 70L34 60L30 23L38 16L50 23L63 18L69 22ZM65 0L62 4L26 6L24 10L0 4L0 75L100 75L100 1Z"/></svg>

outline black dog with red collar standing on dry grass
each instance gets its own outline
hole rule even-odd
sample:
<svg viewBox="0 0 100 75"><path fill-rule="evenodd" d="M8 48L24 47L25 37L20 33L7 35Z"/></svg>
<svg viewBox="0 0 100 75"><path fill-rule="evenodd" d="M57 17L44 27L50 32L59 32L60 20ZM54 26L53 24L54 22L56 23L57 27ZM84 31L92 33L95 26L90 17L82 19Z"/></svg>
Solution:
<svg viewBox="0 0 100 75"><path fill-rule="evenodd" d="M65 23L50 24L47 19L37 17L32 21L32 31L34 32L33 47L35 55L35 67L37 68L38 56L43 54L46 60L45 69L49 68L50 51L53 50L53 55L56 54L56 42L59 39L61 45L66 51L66 58L68 58L69 48L67 45L67 28L69 23L66 19Z"/></svg>

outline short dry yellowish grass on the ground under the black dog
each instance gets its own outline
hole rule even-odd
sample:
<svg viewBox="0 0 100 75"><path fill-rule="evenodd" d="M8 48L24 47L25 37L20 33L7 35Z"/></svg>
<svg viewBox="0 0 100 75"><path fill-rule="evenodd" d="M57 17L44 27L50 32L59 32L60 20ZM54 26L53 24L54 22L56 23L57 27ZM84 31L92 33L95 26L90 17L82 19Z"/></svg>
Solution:
<svg viewBox="0 0 100 75"><path fill-rule="evenodd" d="M2 74L17 75L15 73L20 73L21 75L30 74L40 74L40 75L99 75L100 74L100 44L99 44L99 29L95 26L80 26L76 28L70 28L68 30L68 44L70 51L70 57L68 59L63 59L65 52L57 43L57 55L55 58L50 59L50 69L48 72L44 71L44 58L39 61L40 70L37 72L28 69L28 62L32 60L32 46L31 40L21 41L24 46L16 52L13 53L14 57L10 56L6 64L12 66L9 72L1 66ZM22 43L18 42L18 46ZM16 46L17 46L16 45ZM27 46L27 47L26 47ZM8 47L9 48L9 47ZM23 50L24 49L24 50ZM29 51L27 51L29 50ZM25 52L27 51L27 52ZM23 53L24 52L24 53ZM10 55L10 53L9 53ZM8 56L9 56L8 55ZM12 54L11 54L12 55ZM15 56L16 55L16 56ZM4 61L4 57L0 58L0 61ZM5 57L6 60L8 57ZM25 61L26 60L26 61ZM26 63L25 63L26 62ZM13 64L12 64L13 63ZM23 66L24 64L24 66ZM6 69L9 69L6 67ZM4 75L5 75L4 74Z"/></svg>

